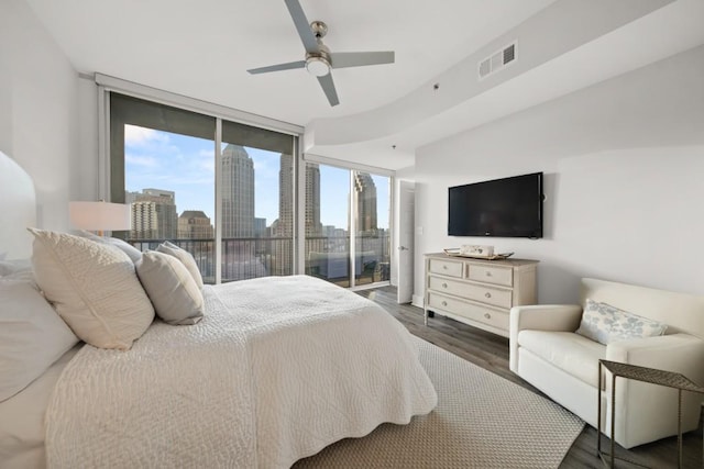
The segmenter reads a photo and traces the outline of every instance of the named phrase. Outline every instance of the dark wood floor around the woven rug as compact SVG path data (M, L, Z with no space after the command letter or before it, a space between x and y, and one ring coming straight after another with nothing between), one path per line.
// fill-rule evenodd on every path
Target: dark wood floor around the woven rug
M428 326L425 326L422 310L410 304L397 304L396 289L394 287L361 290L356 293L382 305L399 320L411 334L541 394L540 391L508 369L507 338L441 316L431 317ZM602 440L602 449L608 449L608 445L609 440L604 438ZM683 468L704 467L702 461L702 425L695 432L684 435L682 447ZM641 445L630 450L617 445L616 456L630 459L649 468L675 468L678 467L676 436ZM584 431L572 445L560 468L603 467L603 464L596 457L596 429L585 425ZM636 468L639 466L617 460L616 467Z

